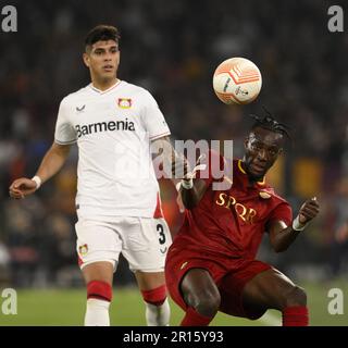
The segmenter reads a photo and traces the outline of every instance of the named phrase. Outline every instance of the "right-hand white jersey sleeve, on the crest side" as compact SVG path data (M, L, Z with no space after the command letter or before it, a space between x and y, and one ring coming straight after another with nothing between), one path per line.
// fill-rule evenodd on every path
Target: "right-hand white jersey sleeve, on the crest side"
M154 140L171 134L171 130L164 120L164 116L154 100L154 98L146 91L144 99L142 121L146 130L149 133L150 140Z

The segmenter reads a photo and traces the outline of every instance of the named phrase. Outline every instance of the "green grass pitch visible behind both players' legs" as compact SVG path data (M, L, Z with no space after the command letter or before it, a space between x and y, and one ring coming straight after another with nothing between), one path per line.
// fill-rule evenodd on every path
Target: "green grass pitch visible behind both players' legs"
M348 281L330 283L299 283L306 288L310 309L311 325L348 325ZM328 297L331 288L339 288L343 295L343 314L330 314ZM346 297L346 298L345 298ZM82 325L85 312L85 289L26 289L17 291L17 314L0 312L0 325L30 325L30 326L66 326ZM346 300L345 300L346 299ZM0 297L0 306L5 306L5 299ZM332 307L339 309L340 303L332 302ZM171 325L178 325L183 311L171 301ZM111 324L116 326L145 326L144 303L136 288L114 288L111 304ZM277 311L269 311L258 321L228 316L219 313L212 326L247 326L247 325L281 325Z

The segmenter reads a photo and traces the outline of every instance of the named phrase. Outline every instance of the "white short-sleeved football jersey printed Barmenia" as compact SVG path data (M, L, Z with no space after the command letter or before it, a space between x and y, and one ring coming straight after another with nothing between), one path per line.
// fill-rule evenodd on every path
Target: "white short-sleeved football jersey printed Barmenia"
M66 96L54 141L78 146L78 216L156 216L159 184L150 142L170 134L153 97L124 80L104 91L90 84Z

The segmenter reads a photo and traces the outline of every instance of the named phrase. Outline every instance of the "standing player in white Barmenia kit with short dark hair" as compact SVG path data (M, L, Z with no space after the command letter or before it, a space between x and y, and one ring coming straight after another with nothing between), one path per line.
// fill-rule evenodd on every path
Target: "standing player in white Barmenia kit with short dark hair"
M35 192L77 144L76 249L87 285L85 325L110 325L120 252L137 279L147 324L169 325L163 271L171 235L149 145L169 141L170 129L146 89L116 77L119 39L117 28L105 25L87 35L83 58L91 84L62 100L53 145L35 176L14 181L10 195L21 199Z

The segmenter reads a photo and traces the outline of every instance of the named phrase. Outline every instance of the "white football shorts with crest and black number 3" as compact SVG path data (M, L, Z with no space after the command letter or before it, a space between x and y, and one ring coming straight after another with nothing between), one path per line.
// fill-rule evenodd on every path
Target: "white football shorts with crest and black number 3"
M172 237L164 219L117 217L113 222L79 219L75 225L80 269L109 261L114 271L120 252L130 271L162 272Z

